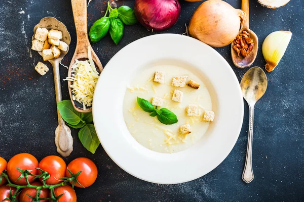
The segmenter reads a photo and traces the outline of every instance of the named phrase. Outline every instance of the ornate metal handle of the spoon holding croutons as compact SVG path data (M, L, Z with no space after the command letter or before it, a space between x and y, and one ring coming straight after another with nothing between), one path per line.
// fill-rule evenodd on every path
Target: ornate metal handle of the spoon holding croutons
M60 73L59 73L59 60L52 62L53 72L54 72L54 82L55 82L55 94L56 103L62 100L61 95L61 84L60 84ZM67 157L73 150L73 138L71 135L71 130L65 125L59 110L57 109L58 116L58 126L55 130L55 144L57 146L57 152L63 156Z

